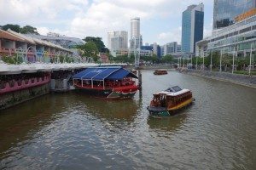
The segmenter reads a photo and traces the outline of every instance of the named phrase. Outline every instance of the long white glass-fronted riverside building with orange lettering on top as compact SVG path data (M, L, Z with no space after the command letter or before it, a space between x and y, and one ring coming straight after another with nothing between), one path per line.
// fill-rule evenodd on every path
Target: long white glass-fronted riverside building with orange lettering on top
M235 24L215 31L212 37L196 43L196 56L212 51L247 56L256 48L256 8L235 17Z

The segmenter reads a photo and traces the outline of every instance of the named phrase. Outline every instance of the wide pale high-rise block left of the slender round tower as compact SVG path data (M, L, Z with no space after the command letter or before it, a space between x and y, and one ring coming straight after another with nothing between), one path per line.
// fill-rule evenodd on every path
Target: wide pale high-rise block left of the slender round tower
M127 49L128 32L127 31L110 31L108 32L109 49Z

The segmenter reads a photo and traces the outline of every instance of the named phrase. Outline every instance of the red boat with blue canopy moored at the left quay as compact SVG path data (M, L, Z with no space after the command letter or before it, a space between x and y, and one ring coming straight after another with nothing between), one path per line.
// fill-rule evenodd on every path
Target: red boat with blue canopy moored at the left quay
M120 66L89 67L73 76L73 86L96 98L129 99L137 93L137 78Z

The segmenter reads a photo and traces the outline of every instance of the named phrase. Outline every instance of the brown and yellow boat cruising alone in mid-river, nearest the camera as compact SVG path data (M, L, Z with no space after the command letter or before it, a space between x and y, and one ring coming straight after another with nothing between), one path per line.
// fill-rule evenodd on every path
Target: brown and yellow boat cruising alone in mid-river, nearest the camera
M167 88L165 91L153 94L153 96L148 106L149 116L153 117L175 115L195 100L189 89L178 86Z

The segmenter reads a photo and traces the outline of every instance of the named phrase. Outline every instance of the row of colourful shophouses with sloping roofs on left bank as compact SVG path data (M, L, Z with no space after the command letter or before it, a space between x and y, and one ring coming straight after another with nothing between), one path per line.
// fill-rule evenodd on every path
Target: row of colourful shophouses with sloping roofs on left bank
M0 57L15 56L30 63L45 62L59 56L73 57L73 52L51 42L0 29Z

